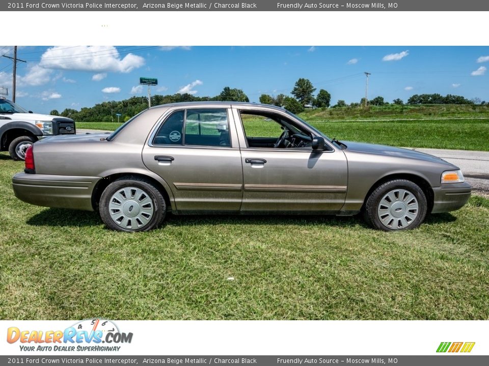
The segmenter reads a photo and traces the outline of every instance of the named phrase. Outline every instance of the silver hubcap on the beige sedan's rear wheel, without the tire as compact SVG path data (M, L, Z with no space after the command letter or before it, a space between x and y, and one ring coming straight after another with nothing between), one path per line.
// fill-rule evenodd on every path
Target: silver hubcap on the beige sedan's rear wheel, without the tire
M122 188L114 193L108 209L112 220L125 229L138 229L148 224L154 214L153 201L136 187Z

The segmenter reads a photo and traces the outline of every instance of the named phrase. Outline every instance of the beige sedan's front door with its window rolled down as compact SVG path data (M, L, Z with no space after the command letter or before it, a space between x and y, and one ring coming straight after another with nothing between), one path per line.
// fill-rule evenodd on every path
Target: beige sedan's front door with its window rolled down
M241 120L246 139L246 146L241 149L244 184L241 210L341 209L348 179L346 157L341 149L331 147L328 151L313 152L310 132L284 115L241 110L235 111L234 116Z

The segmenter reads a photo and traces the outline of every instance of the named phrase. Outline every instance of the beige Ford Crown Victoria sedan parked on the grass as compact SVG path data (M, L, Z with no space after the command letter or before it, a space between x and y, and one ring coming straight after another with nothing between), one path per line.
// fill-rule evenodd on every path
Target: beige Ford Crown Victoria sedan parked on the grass
M328 138L290 112L234 102L149 108L112 134L51 137L12 178L22 201L99 210L120 231L173 214L363 212L382 230L462 207L458 167L417 151Z

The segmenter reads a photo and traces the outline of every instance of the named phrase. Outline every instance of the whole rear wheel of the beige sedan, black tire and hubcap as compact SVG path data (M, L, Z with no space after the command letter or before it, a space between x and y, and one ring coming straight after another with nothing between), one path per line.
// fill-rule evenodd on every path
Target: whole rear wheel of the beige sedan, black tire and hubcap
M102 221L112 230L148 231L161 225L167 205L159 189L150 181L127 176L105 188L100 197L99 212Z

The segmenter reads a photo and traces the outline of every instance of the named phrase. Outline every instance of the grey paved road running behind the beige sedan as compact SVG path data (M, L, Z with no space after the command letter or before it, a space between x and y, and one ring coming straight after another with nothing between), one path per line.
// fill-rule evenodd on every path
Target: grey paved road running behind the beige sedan
M79 134L103 133L108 131L77 130ZM421 153L437 156L458 166L467 181L478 193L489 196L489 152L488 151L466 151L466 150L443 150L428 148L412 148Z

